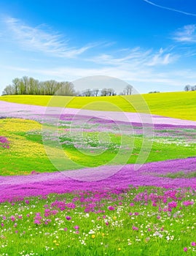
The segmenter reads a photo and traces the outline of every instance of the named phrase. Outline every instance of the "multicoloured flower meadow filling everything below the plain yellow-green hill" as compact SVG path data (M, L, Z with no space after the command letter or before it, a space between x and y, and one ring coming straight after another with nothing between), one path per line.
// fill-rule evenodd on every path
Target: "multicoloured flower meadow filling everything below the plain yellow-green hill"
M195 128L0 101L0 255L196 255Z

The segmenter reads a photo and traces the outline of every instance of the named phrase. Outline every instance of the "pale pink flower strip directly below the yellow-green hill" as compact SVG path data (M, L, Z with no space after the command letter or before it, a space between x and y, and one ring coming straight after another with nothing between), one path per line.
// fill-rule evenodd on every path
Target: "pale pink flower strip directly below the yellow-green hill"
M39 121L47 121L52 119L52 116L58 118L63 115L74 116L93 116L113 121L124 121L128 123L149 124L154 125L173 125L181 127L196 127L196 121L181 120L177 118L168 118L164 116L155 116L144 113L125 113L111 111L94 111L94 110L79 110L74 108L52 108L36 105L24 105L0 101L0 114L6 117L28 118Z

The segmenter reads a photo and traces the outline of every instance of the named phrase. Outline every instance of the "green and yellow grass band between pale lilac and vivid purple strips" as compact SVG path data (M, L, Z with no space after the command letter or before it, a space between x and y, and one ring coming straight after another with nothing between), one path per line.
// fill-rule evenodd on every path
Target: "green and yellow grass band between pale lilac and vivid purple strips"
M48 125L45 128L50 128L52 133L56 129ZM89 127L87 129L87 132L85 129L82 132L82 137L77 133L71 135L68 131L65 132L63 127L58 127L62 144L56 143L58 138L55 140L49 138L49 140L44 140L43 144L42 139L47 134L44 134L42 138L42 125L38 122L17 118L1 119L0 134L9 140L9 148L0 146L0 174L3 176L19 175L31 173L33 170L52 172L98 165L124 165L136 163L139 156L141 159L138 161L141 163L144 159L146 162L156 162L195 157L195 144L192 141L187 144L189 138L187 140L173 138L172 133L172 140L155 137L152 141L152 138L144 138L143 135L101 132L102 141L100 142L99 133L90 132ZM108 142L103 140L104 136L109 139ZM152 145L152 148L143 147L142 153L143 141L148 146ZM149 156L147 156L148 153Z

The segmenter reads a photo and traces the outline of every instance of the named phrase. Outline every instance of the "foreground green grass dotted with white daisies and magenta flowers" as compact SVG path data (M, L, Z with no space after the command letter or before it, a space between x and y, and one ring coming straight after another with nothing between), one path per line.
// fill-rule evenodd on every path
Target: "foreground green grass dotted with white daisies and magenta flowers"
M168 211L171 201L176 206ZM192 204L184 206L184 202ZM0 253L2 256L193 256L194 202L195 192L191 189L139 187L119 194L100 190L1 203ZM74 205L69 208L66 203Z

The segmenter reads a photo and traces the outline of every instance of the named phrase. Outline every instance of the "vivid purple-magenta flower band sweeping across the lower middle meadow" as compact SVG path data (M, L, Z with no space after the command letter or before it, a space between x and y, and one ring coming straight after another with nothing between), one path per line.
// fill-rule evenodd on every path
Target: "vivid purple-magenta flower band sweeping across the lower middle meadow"
M191 187L196 189L196 178L162 177L167 173L196 171L196 157L147 163L139 170L135 170L134 165L125 165L115 173L116 168L119 169L118 166L102 166L58 173L33 173L30 176L1 176L1 202L50 193L98 191L100 188L106 190L128 189L129 186ZM114 173L113 176L112 173ZM95 176L100 180L94 181ZM105 176L110 177L104 178Z

